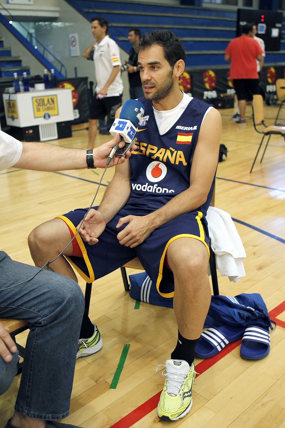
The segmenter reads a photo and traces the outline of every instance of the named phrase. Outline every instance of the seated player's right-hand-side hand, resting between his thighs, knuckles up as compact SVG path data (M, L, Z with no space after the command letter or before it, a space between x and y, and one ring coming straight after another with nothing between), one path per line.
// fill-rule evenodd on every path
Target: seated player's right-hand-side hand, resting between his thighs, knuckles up
M128 215L120 218L117 224L117 228L123 226L125 223L129 223L125 229L118 233L117 238L121 245L126 247L134 248L137 245L144 242L154 231L154 227L151 227L148 221L148 216L135 216Z

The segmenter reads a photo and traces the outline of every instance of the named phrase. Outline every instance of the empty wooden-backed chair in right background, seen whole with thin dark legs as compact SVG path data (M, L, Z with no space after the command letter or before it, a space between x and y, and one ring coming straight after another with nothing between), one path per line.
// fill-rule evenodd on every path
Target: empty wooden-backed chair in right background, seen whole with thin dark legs
M259 124L264 126L264 128L261 129L261 131L256 128L256 126L259 126ZM256 132L258 132L259 134L262 134L262 138L261 138L261 142L259 144L259 148L256 152L256 157L254 158L253 164L251 166L250 173L253 170L253 166L256 162L256 158L259 154L259 150L261 148L261 145L263 143L265 135L266 136L268 135L268 140L267 140L267 143L265 145L264 152L263 152L263 155L261 157L260 163L262 162L262 159L264 157L264 154L265 154L265 151L267 149L271 135L273 135L273 134L274 135L281 135L284 138L284 142L285 142L285 126L277 126L277 125L266 126L265 125L264 112L263 112L263 98L261 95L253 95L253 126L254 126L254 129L256 130Z

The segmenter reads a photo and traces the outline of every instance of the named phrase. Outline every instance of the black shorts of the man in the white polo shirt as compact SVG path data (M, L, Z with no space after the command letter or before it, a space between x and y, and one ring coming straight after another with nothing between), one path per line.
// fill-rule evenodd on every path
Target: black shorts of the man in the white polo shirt
M112 122L109 126L111 128L115 119L115 113L122 105L122 95L101 98L100 100L97 100L96 95L95 93L89 107L89 119L104 120L107 116L107 126Z

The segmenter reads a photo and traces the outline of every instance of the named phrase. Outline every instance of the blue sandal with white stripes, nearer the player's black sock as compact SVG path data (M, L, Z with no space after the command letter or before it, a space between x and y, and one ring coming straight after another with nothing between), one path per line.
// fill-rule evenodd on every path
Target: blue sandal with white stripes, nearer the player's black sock
M201 337L195 348L195 355L200 358L210 358L217 355L230 342L241 339L244 327L223 325L210 327L201 333Z

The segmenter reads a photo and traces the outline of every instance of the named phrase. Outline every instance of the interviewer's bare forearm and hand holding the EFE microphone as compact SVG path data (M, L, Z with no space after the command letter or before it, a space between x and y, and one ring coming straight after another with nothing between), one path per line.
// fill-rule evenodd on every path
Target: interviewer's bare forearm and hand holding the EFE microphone
M113 146L118 142L119 134L108 143L93 149L94 166L105 168L108 155ZM124 142L119 144L123 147ZM127 153L127 157L130 152ZM124 158L113 157L109 166L125 162ZM63 171L66 169L86 168L86 151L82 149L69 149L67 147L54 146L47 143L23 143L21 158L15 168L33 169L35 171Z

